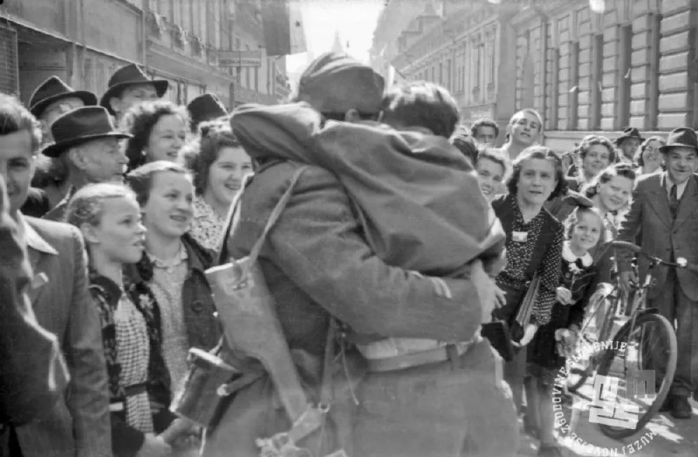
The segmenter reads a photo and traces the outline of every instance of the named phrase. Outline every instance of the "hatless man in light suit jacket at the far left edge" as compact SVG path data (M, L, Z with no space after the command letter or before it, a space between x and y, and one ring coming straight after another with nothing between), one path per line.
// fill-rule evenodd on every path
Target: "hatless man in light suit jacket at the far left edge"
M20 212L39 144L36 119L16 98L0 95L0 175L8 186L10 216L28 246L34 273L46 280L29 291L29 299L38 323L57 336L70 370L66 394L17 427L17 439L24 457L111 456L101 324L87 290L82 237L75 227Z

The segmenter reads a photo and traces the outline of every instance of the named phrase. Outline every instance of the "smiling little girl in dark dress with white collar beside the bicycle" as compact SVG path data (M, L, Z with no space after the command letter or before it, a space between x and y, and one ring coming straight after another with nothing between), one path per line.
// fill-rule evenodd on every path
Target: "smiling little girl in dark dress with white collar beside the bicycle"
M579 207L565 221L562 277L551 321L538 329L528 347L526 429L540 439L539 456L561 456L555 445L552 389L565 365L565 355L577 342L584 310L593 294L597 267L589 249L604 232L602 213Z

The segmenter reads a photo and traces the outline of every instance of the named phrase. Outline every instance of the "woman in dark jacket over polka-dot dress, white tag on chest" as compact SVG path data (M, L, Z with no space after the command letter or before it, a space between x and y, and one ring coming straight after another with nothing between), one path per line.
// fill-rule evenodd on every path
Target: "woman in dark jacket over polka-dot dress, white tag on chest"
M562 161L557 154L547 147L535 146L525 149L514 160L507 181L509 193L492 201L507 234L507 267L497 276L498 308L493 317L511 324L530 282L536 274L540 278L531 320L522 329L521 347L504 370L519 410L526 375L526 343L538 327L549 322L560 285L563 226L543 205L566 187Z

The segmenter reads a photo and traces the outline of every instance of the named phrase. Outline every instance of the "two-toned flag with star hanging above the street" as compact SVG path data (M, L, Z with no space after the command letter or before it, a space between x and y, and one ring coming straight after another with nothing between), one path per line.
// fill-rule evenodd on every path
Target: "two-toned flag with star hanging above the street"
M297 2L263 1L262 27L268 56L288 56L306 52L305 27Z

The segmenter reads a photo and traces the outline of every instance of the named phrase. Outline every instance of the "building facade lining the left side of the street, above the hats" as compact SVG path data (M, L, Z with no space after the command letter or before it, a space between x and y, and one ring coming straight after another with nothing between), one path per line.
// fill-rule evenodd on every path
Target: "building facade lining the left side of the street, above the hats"
M0 6L0 91L27 103L57 75L101 96L117 68L138 63L186 104L210 92L228 107L278 103L283 57L267 57L260 6L232 0L6 0ZM260 65L222 68L221 50L259 50ZM281 61L281 64L279 64Z

